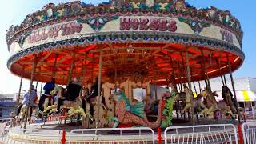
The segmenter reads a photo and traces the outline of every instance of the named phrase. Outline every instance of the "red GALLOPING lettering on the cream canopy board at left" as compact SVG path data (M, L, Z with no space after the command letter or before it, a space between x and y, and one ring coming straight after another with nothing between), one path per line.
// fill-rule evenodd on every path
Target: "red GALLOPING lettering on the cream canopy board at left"
M57 26L46 27L42 30L35 30L30 36L28 36L28 42L34 43L42 40L46 40L47 38L56 38L58 34L61 32L62 36L72 35L75 33L80 33L82 30L82 24L70 22Z

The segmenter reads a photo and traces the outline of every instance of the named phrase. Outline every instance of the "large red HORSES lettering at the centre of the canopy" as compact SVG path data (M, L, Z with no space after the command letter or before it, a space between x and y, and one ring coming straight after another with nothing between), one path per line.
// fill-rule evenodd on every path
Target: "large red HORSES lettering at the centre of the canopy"
M177 22L166 18L120 18L120 30L152 30L170 31L177 30Z

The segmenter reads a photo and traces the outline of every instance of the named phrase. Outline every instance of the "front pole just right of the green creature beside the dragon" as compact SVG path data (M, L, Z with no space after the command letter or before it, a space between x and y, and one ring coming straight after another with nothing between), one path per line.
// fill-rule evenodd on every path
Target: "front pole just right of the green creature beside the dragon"
M183 59L183 58L182 58ZM187 74L187 80L188 80L188 85L190 89L190 93L192 92L192 86L191 86L191 74L190 74L190 59L189 59L189 54L186 50L186 74ZM193 125L195 124L194 122L194 102L193 102L193 94L190 94L191 96L191 112L192 112L192 123Z

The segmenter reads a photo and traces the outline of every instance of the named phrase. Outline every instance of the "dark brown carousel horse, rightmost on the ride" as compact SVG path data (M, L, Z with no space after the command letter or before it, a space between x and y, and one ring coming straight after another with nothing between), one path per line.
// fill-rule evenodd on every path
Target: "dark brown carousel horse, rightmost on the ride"
M233 94L227 86L222 86L222 98L224 102L230 106L230 110L232 110L234 114L238 114L236 109L238 102L233 98Z

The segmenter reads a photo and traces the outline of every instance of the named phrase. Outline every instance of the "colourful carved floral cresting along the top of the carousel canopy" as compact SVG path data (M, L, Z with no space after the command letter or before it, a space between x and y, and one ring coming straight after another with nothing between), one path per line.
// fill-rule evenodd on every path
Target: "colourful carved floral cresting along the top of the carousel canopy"
M29 14L20 26L11 26L6 34L6 42L10 47L12 42L17 41L27 32L26 30L78 18L89 23L94 30L101 30L107 22L121 15L179 18L190 25L196 34L210 24L221 26L234 33L242 46L243 33L240 22L230 14L230 11L218 10L214 7L197 9L184 0L110 0L102 2L98 6L79 1L62 3L57 6L50 3L42 10Z

